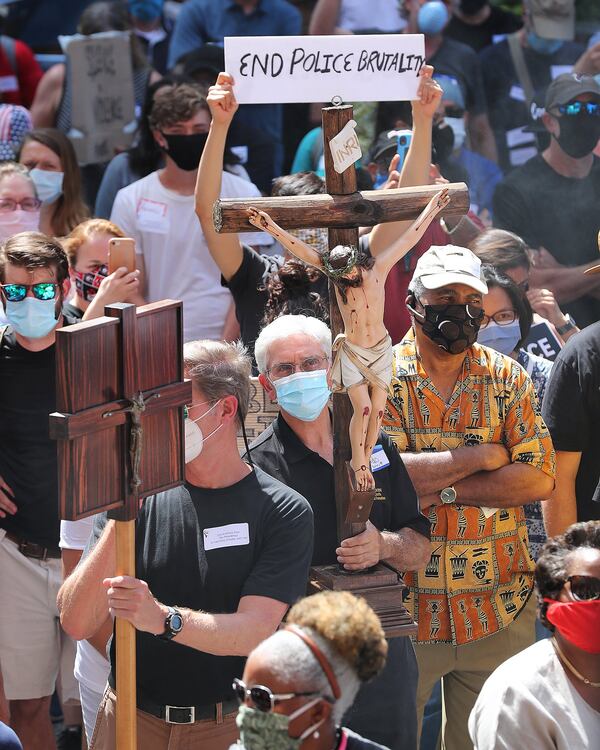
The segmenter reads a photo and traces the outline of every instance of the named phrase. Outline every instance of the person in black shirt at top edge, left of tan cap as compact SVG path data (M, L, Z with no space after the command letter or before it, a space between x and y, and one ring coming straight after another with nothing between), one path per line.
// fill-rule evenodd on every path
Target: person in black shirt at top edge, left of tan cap
M494 37L518 31L523 21L488 0L452 0L452 18L444 36L467 44L475 52L493 44Z

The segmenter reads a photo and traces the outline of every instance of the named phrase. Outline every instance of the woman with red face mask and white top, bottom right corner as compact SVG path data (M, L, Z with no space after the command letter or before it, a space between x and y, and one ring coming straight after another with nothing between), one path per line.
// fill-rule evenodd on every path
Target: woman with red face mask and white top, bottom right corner
M488 678L469 718L474 750L600 747L600 521L549 539L535 582L552 638Z

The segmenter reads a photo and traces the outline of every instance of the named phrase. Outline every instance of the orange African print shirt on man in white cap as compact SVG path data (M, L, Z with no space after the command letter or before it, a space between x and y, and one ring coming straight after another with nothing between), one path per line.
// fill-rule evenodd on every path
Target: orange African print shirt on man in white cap
M394 347L384 428L400 452L502 443L513 463L554 477L554 449L531 380L512 359L478 344L467 351L446 405L409 331ZM456 503L433 506L429 520L429 563L405 577L417 641L461 645L510 625L533 587L523 508L486 518L480 508Z

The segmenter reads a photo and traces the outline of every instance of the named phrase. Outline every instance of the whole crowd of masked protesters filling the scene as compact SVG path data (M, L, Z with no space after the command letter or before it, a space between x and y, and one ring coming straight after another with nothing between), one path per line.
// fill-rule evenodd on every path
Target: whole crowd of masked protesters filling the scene
M137 631L144 750L600 747L594 3L51 5L0 39L0 750L117 748L115 617ZM137 130L110 160L80 158L68 53L44 62L75 32L128 35ZM326 192L327 103L238 105L223 40L405 33L424 36L417 98L354 103L357 181L439 193L336 256L326 229L253 208ZM448 182L462 217L440 216ZM248 232L216 231L219 198ZM135 268L111 267L123 238ZM375 415L375 501L340 538L329 289L368 279L356 326L381 313L393 349L345 384ZM144 499L121 576L106 513L60 518L56 332L166 298L192 383L185 484ZM274 418L248 445L261 391ZM378 564L406 584L411 637L348 592L307 595L311 566Z

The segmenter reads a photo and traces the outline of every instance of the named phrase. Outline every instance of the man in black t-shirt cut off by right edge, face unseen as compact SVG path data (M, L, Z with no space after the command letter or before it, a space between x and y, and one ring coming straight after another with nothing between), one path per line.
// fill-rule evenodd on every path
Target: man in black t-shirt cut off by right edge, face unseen
M598 267L600 271L600 267ZM561 349L542 404L556 449L556 486L544 513L548 536L575 521L600 520L600 323Z

